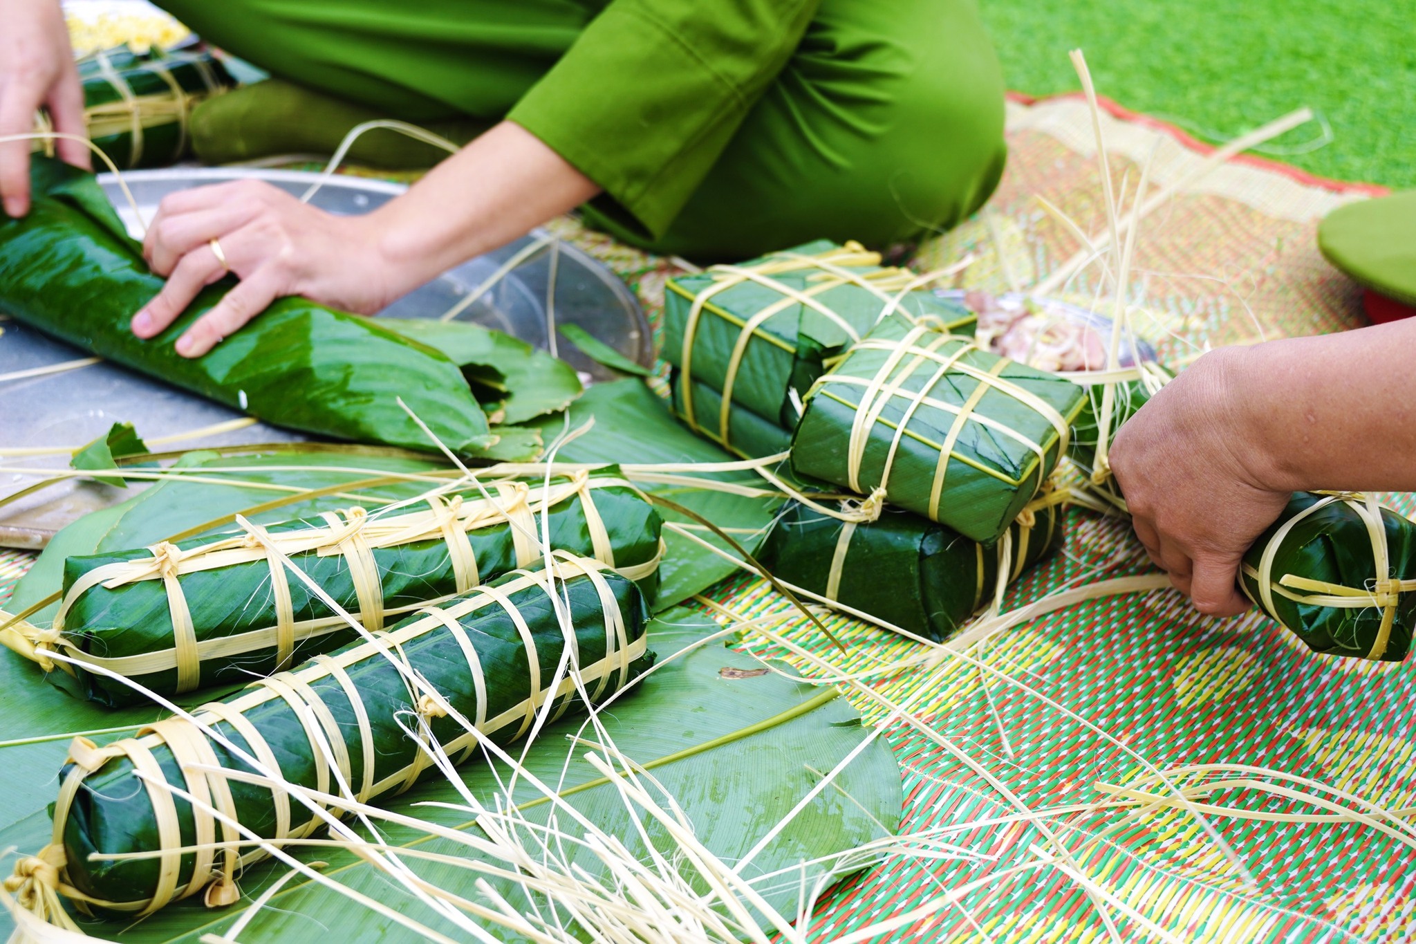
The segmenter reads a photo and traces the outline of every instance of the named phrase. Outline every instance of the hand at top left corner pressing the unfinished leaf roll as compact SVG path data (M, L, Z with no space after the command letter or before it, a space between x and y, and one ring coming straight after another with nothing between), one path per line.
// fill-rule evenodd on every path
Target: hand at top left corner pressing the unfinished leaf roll
M41 105L54 130L85 136L84 88L59 0L0 0L0 139L33 132ZM30 147L28 140L0 143L0 198L10 217L30 212ZM79 142L59 140L55 151L91 167Z

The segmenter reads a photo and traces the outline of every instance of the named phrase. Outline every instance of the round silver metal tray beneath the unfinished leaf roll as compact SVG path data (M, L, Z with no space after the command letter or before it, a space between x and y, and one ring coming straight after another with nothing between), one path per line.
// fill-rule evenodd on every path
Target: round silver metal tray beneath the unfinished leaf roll
M167 194L202 184L231 180L263 180L292 194L303 194L319 174L252 168L188 168L132 171L123 174L146 219ZM112 174L101 174L103 185L129 229L137 235L137 221ZM401 184L334 177L310 201L334 214L365 214L406 190ZM473 321L514 334L541 348L552 345L551 314L555 324L578 324L632 361L653 365L653 338L643 310L629 287L603 265L535 231L511 245L449 269L421 289L399 299L379 314L395 318L435 318L477 290L504 263L537 242L520 265L487 290L459 321ZM0 375L84 357L67 344L18 324L0 323ZM555 338L559 357L571 362L590 384L612 374L595 364L564 337ZM101 436L115 422L132 422L140 436L159 439L201 429L239 415L193 393L112 364L64 374L0 382L0 449L78 446ZM239 432L201 440L184 440L180 447L200 449L238 443L292 442L299 433L258 423ZM0 457L0 466L17 468L59 468L67 456L37 459ZM34 483L38 474L0 473L0 497ZM132 495L96 483L54 485L34 498L0 508L0 546L40 548L65 524L88 511Z

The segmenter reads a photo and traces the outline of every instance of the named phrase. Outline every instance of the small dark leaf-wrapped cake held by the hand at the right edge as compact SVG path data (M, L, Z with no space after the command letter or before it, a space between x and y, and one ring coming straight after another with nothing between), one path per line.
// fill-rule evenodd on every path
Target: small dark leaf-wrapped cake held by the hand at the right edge
M1300 491L1240 586L1314 652L1400 662L1416 626L1416 524L1374 497Z

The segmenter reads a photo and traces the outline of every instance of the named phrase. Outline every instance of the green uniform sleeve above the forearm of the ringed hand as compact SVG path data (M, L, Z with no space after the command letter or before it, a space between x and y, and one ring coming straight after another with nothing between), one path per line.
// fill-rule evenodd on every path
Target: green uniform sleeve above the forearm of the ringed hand
M613 0L507 116L664 234L806 33L818 0Z

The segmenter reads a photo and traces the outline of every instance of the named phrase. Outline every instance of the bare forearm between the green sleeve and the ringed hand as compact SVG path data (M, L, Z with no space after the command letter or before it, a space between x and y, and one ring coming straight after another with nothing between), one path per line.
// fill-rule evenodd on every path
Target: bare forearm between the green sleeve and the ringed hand
M534 134L503 122L370 214L367 226L398 296L598 192Z

